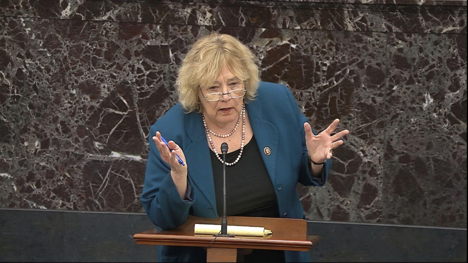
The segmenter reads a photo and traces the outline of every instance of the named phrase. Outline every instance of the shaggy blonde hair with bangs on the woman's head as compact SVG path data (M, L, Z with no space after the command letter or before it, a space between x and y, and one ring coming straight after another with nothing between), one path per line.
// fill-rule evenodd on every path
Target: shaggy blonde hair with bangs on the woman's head
M195 42L179 68L177 91L179 101L187 112L202 112L198 91L200 87L212 85L225 66L234 76L245 81L246 102L254 99L259 81L254 55L236 38L213 33Z

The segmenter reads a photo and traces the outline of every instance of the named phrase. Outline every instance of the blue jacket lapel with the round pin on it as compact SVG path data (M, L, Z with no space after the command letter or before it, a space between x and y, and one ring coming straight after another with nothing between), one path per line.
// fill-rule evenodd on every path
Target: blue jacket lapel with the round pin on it
M276 157L278 156L278 131L273 124L265 121L261 102L259 100L250 101L246 106L255 140L257 141L258 150L260 150L263 163L274 184L274 179L276 177ZM266 147L270 148L270 155L265 154Z

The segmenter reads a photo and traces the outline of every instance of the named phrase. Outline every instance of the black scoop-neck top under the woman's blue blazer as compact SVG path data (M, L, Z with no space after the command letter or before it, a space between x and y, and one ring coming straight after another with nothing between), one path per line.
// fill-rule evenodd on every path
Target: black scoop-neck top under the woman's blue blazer
M232 163L240 149L227 153ZM219 154L222 159L223 155ZM223 216L223 164L211 152L215 180L216 209ZM263 163L255 137L244 146L242 156L233 166L226 166L226 214L228 216L279 217L278 201L272 180Z

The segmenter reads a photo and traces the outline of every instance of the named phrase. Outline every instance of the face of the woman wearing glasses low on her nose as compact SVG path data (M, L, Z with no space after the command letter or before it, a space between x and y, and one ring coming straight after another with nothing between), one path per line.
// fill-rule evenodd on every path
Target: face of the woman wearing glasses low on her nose
M234 76L227 67L223 68L211 86L200 88L198 98L203 106L203 115L210 129L215 128L213 125L223 128L232 122L236 123L239 113L242 110L244 97L231 98L226 94L218 101L207 101L206 98L203 97L203 94L206 95L215 92L228 93L231 90L244 88L244 81Z

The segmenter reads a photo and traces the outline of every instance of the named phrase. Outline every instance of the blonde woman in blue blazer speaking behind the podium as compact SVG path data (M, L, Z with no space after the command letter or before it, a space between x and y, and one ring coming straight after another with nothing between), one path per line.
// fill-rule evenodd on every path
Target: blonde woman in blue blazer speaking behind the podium
M215 33L192 46L177 78L180 103L150 129L140 200L156 226L174 228L189 214L222 216L223 142L228 215L304 218L296 184L323 186L332 150L349 131L332 134L335 119L316 134L288 88L258 75L254 56L232 36ZM309 259L307 252L264 252L245 260ZM158 260L206 261L206 252L159 246Z

